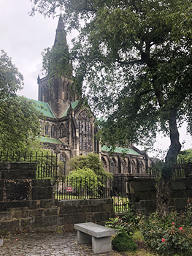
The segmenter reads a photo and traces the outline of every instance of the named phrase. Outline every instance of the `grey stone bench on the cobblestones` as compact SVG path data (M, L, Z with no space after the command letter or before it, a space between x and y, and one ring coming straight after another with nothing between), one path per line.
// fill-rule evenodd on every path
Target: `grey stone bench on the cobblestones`
M93 253L104 253L112 251L111 236L115 235L115 230L103 227L93 222L74 224L77 230L78 244L92 244Z

